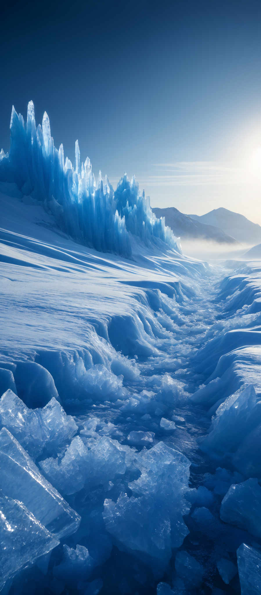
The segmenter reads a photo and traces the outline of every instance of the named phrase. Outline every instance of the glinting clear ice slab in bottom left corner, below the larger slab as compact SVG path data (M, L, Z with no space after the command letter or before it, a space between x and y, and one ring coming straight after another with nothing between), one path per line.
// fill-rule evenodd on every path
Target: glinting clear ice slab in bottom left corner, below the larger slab
M58 546L59 540L18 500L0 496L0 590L8 579L36 558Z

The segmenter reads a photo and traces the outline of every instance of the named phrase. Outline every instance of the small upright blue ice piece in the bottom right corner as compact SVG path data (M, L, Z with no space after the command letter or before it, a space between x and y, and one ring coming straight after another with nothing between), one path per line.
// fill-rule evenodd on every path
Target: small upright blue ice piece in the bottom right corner
M261 593L261 552L242 543L237 550L237 566L240 578L241 595Z

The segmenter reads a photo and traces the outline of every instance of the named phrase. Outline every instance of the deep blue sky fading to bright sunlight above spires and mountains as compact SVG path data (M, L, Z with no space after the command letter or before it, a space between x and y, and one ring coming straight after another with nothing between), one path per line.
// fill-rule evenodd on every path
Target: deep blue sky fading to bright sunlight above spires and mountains
M260 0L9 2L0 28L5 151L12 104L33 99L55 145L73 159L78 139L114 186L135 173L153 206L261 223Z

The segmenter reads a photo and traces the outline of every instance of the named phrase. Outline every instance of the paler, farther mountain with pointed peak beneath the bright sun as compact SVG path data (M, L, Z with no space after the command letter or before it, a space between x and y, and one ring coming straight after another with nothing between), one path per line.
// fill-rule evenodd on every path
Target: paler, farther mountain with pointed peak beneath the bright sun
M228 209L213 209L206 215L188 215L188 217L204 223L219 227L229 236L235 237L238 242L258 244L261 242L261 227L257 223L249 221L244 215L228 211Z

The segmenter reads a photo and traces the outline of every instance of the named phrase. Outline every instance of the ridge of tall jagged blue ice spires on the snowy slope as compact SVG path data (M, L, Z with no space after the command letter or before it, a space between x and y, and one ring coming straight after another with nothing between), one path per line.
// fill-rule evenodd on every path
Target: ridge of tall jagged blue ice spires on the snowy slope
M80 161L78 141L73 166L64 159L63 146L55 148L46 112L42 126L36 127L32 101L26 123L12 108L10 131L10 153L0 153L2 189L11 183L12 196L30 196L42 203L74 240L130 257L131 232L146 245L163 242L180 251L177 238L162 218L156 218L135 178L130 182L124 174L115 193L100 172L96 184L90 159Z

